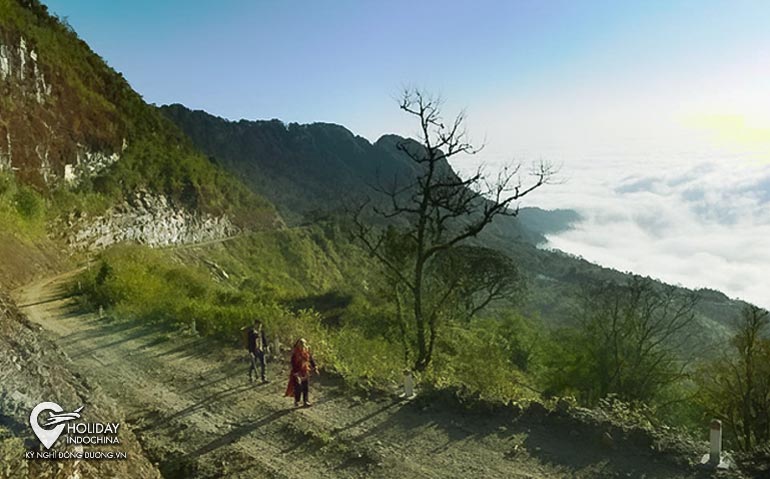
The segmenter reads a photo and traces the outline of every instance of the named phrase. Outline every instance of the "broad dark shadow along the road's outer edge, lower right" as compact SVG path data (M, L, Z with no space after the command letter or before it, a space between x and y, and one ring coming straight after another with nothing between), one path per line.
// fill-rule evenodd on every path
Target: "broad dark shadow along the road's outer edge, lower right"
M542 464L572 471L596 471L598 476L646 477L668 479L671 477L701 477L672 456L654 451L649 445L639 443L634 437L613 431L614 445L603 441L606 428L601 425L585 425L572 418L548 412L514 411L498 408L478 411L460 405L446 403L433 407L430 400L410 402L394 401L367 415L346 424L337 433L355 429L367 421L374 422L366 430L349 436L354 444L369 438L387 437L393 432L411 438L439 432L439 441L430 454L440 454L462 442L483 442L486 439L501 444L505 457L515 459L526 454ZM499 447L499 446L498 446Z

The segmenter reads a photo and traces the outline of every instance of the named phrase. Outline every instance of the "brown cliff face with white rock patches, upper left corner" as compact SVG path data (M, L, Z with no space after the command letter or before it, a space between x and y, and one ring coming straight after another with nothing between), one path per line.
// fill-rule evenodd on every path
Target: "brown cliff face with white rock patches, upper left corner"
M125 139L102 101L83 98L55 52L0 22L0 171L39 187L77 184L119 159ZM66 180L66 181L65 181Z

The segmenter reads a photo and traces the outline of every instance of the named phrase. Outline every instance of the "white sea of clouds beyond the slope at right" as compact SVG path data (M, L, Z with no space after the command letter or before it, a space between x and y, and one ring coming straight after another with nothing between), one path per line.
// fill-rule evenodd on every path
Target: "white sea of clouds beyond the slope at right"
M556 248L621 271L770 307L770 164L738 158L565 163L522 206L583 220Z

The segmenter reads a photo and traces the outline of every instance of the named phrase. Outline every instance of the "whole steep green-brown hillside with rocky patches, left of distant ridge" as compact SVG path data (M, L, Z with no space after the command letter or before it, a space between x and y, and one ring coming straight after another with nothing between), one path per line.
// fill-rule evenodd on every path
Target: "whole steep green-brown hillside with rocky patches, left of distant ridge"
M0 173L47 198L48 217L100 195L100 217L58 225L76 228L79 248L206 241L232 234L232 224L280 221L40 0L0 0ZM140 190L149 196L136 200Z

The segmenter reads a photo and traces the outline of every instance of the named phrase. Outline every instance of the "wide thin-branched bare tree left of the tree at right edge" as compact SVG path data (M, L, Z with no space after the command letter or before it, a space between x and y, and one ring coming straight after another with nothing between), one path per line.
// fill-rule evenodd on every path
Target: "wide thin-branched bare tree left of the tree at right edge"
M608 395L650 401L685 376L680 352L695 321L698 296L634 276L591 284L581 292L574 328L552 355L552 392L577 393L587 404Z

